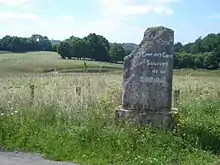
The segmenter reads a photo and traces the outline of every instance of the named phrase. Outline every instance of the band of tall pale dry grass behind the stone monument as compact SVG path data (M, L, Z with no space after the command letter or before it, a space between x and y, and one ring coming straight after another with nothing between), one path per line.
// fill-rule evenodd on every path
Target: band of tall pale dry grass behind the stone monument
M35 104L58 104L60 106L86 105L115 90L121 93L121 74L71 73L71 74L26 74L0 77L0 102L17 106L31 100L30 85L34 85ZM76 92L80 87L81 95ZM218 98L218 77L174 76L173 90L181 92L180 102L191 103L207 98ZM155 91L156 92L156 91ZM118 96L118 95L117 95ZM120 104L121 96L117 98Z

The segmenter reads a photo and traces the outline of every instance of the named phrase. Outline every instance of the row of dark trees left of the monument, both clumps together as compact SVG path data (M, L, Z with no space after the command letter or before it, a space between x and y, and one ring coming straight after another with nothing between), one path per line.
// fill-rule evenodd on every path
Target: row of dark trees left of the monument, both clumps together
M109 43L109 41L95 33L84 38L71 36L68 39L52 44L47 36L33 34L31 37L6 35L0 39L0 51L15 53L28 51L55 51L63 59L92 59L96 61L118 62L132 50L124 49L123 44Z

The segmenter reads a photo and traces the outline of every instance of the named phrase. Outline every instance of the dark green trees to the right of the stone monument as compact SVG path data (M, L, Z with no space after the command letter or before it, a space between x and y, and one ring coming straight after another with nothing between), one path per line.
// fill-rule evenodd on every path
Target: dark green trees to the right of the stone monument
M195 42L174 45L174 68L218 69L220 62L220 33L199 37Z

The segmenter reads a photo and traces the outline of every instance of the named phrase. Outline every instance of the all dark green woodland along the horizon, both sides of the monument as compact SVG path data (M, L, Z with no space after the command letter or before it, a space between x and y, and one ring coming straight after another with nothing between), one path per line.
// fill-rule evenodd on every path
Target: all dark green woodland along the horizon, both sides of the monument
M26 38L7 35L0 39L0 50L3 51L55 51L63 59L77 58L106 62L123 61L123 58L134 48L135 44L109 43L105 37L95 33L84 38L71 36L59 44L52 44L47 36L38 34ZM208 34L185 45L177 42L174 49L174 68L219 68L220 33Z

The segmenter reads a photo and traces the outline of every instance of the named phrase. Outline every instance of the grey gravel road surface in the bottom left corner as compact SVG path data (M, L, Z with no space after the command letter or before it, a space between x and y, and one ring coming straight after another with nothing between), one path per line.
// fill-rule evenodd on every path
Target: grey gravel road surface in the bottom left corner
M43 159L38 154L23 152L0 152L0 165L79 165Z

